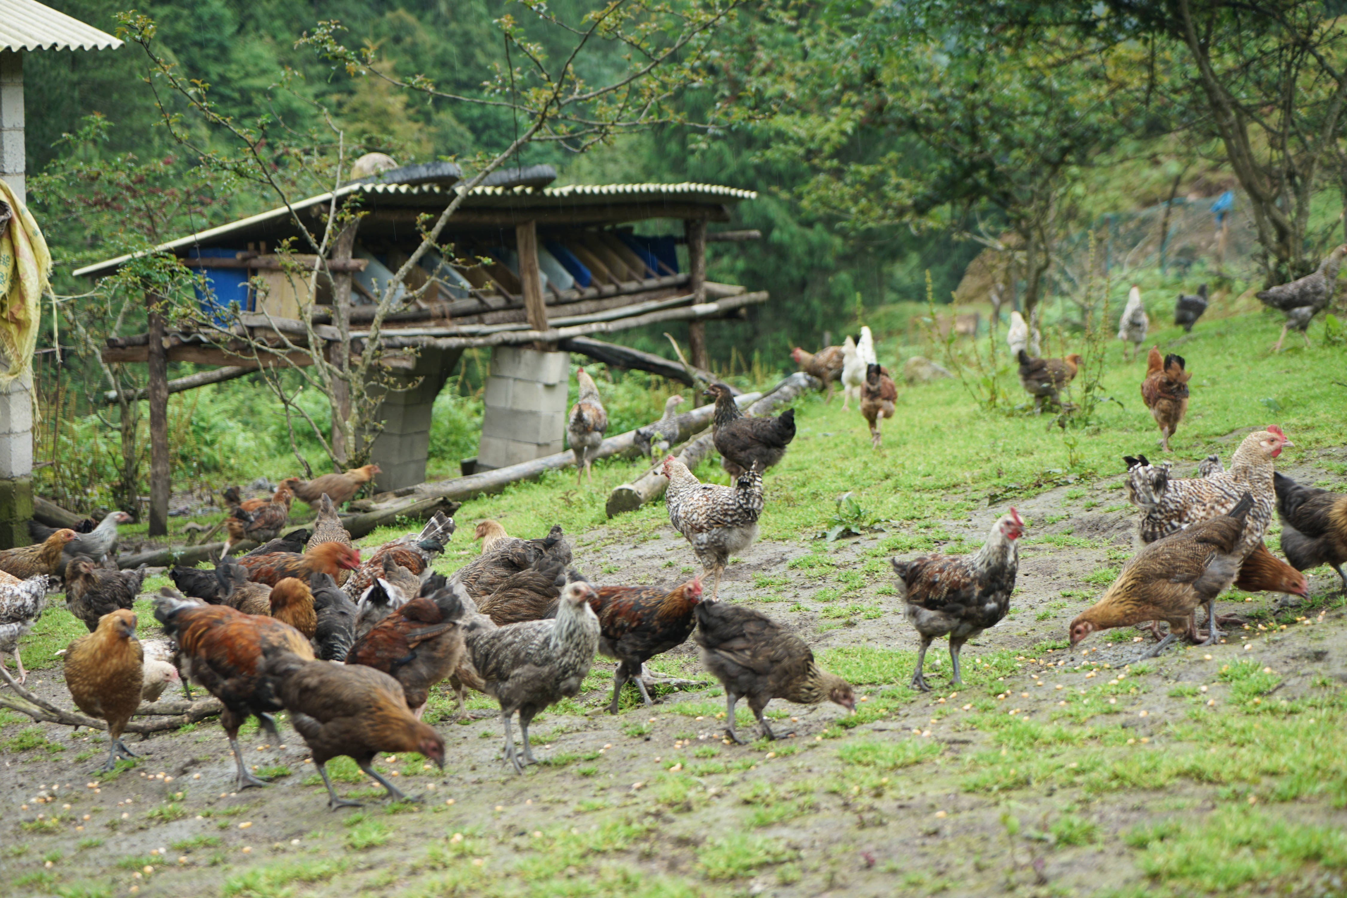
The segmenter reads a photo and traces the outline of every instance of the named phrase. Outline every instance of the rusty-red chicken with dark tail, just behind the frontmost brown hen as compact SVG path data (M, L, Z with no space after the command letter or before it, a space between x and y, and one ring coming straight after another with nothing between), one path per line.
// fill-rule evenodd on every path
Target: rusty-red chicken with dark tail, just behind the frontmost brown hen
M244 767L238 727L253 715L267 732L277 735L271 714L282 708L280 683L263 669L263 656L291 652L311 661L308 640L288 623L222 605L198 605L170 587L155 596L155 619L178 642L191 679L225 705L220 723L234 753L237 789L265 786Z

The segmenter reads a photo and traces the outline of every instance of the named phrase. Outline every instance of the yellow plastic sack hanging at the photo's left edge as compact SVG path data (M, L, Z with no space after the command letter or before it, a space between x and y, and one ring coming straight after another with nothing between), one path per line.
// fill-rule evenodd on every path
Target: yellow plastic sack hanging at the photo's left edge
M42 295L50 289L51 253L28 207L0 180L0 202L9 218L0 236L0 351L8 368L0 368L0 388L32 368L42 323Z

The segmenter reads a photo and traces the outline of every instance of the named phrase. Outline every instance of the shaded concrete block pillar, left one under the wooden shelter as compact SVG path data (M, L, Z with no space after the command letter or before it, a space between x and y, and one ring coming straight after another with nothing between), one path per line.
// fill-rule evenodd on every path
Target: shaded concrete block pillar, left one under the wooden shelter
M397 373L396 380L415 386L387 393L379 408L384 429L370 447L370 460L380 467L374 478L379 490L400 490L426 482L435 397L462 354L461 349L423 349L411 370Z

